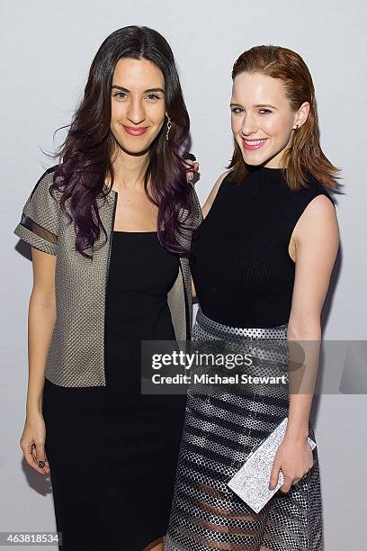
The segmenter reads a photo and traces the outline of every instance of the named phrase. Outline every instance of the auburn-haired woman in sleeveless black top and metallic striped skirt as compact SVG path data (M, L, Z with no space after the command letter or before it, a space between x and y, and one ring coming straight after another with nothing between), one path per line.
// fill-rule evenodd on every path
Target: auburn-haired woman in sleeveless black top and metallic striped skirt
M329 194L339 169L320 147L314 86L299 54L256 46L239 56L232 78L233 158L192 236L200 303L192 339L199 350L220 341L221 352L249 352L245 372L283 373L287 384L235 384L228 392L219 384L217 393L191 385L164 548L320 551L322 501L309 412L320 315L339 242ZM285 436L264 474L270 489L281 471L284 482L255 512L228 481L284 418Z

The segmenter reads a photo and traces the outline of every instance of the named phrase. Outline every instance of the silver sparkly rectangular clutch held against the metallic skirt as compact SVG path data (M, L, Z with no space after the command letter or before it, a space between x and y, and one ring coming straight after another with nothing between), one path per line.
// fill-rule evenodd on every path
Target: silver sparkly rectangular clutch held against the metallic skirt
M269 437L252 450L245 465L228 482L229 488L237 493L255 512L262 510L284 483L284 475L280 471L278 483L273 490L269 490L273 460L278 447L282 444L287 421L288 417L282 420ZM311 449L316 447L316 443L311 438L308 438L308 443Z

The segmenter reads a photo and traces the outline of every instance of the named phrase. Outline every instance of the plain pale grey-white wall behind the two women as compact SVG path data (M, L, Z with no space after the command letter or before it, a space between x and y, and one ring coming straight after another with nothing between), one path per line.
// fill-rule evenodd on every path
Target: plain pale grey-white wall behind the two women
M55 529L49 478L24 464L19 447L31 262L13 228L31 187L54 164L40 148L54 150L52 134L70 122L104 38L122 26L145 24L170 42L191 115L192 151L201 161L201 201L231 155L233 61L256 44L279 44L300 53L316 87L322 147L343 167L346 192L337 207L342 245L324 337L366 339L366 12L362 0L2 0L0 530ZM59 132L56 144L63 137ZM329 394L316 397L314 406L326 551L362 549L367 537L365 396Z

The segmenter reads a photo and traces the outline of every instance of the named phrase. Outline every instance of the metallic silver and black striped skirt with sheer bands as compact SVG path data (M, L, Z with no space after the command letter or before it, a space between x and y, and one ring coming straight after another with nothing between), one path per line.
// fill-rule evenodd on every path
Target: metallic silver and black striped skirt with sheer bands
M192 339L205 354L249 355L252 365L230 375L280 375L288 370L287 325L243 329L197 313ZM210 366L218 380L228 368ZM192 366L208 373L208 367ZM204 380L204 379L200 379ZM228 488L246 457L288 415L288 385L191 384L164 551L322 551L318 448L313 466L289 492L278 491L255 513ZM309 424L309 437L316 441Z

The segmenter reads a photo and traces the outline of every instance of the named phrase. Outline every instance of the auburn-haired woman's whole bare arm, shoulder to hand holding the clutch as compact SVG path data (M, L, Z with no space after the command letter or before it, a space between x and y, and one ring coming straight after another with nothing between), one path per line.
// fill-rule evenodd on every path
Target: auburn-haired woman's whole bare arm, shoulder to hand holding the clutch
M289 370L290 404L284 439L273 462L274 487L282 468L282 492L298 483L313 465L309 436L309 412L318 372L321 340L320 317L339 246L336 211L325 195L313 199L300 216L292 239L296 251L295 282L288 323L290 360L300 344L304 357L300 367ZM299 348L299 349L300 349ZM290 361L291 366L291 361Z

